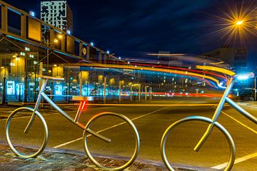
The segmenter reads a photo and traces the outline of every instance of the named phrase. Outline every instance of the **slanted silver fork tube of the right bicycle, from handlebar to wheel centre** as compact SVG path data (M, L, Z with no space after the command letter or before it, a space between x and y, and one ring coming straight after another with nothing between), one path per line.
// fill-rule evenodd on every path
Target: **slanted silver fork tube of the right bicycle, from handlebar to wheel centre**
M213 117L211 118L213 123L215 123L217 121L219 115L221 114L221 110L223 108L223 105L226 102L226 97L228 97L228 94L231 92L231 89L233 88L234 83L235 83L235 81L233 80L233 77L231 77L230 80L228 81L228 87L224 91L224 93L222 95L222 98L221 98L220 102L218 103L218 106L215 110L215 113L213 114ZM208 136L211 134L211 131L213 130L213 127L214 127L213 123L208 125L208 128L206 129L206 132L203 134L201 139L198 141L196 146L193 148L193 150L195 150L196 152L198 152L200 150L203 143L206 142Z

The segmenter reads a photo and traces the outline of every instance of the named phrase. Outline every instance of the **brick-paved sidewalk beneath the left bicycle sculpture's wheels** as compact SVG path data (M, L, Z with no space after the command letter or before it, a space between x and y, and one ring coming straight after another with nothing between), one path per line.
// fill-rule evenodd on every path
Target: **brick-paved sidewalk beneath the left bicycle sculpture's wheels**
M25 147L19 147L19 150L26 152L31 150ZM101 164L106 166L116 167L122 165L122 159L111 159L110 157L98 157ZM0 144L0 170L101 170L96 167L89 158L85 157L83 152L76 152L72 150L56 150L46 149L36 159L22 159L14 155L13 152L6 145ZM133 162L126 170L149 170L161 171L167 170L162 163L152 161ZM192 169L178 169L179 171L192 171ZM203 169L204 170L204 169Z

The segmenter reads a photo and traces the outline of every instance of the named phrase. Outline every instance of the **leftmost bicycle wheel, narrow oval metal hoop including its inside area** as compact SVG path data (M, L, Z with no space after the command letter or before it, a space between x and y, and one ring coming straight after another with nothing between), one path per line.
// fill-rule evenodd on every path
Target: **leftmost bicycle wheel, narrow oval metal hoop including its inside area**
M11 150L24 158L39 155L46 147L49 136L46 121L38 111L34 112L33 108L22 107L14 110L6 120L5 130Z

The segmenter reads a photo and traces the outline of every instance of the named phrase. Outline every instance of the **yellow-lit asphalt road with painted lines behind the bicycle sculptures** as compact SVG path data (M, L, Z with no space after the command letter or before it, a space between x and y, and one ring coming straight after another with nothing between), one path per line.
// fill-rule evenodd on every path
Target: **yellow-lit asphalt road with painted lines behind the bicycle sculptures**
M161 137L171 123L190 115L201 115L211 118L215 111L215 105L208 106L183 106L185 103L197 104L218 103L217 100L198 98L176 98L173 100L152 101L143 103L148 106L87 106L81 115L81 123L86 122L97 113L109 111L122 113L133 120L141 136L141 150L138 160L154 160L161 162L160 142ZM138 104L138 103L137 103ZM156 104L170 104L171 106L156 106ZM179 106L176 106L178 104ZM155 105L155 106L151 106ZM257 109L246 108L257 117ZM14 108L0 108L1 115L7 115ZM76 114L75 108L66 108L67 113L72 117ZM28 113L19 113L11 123L11 140L16 144L36 147L44 137L41 123L36 120L24 136L22 131L29 120ZM83 130L69 120L66 120L55 110L44 110L42 112L49 128L49 142L47 147L62 148L69 150L84 150L82 135ZM0 141L5 142L4 124L5 118L0 120ZM236 144L236 164L233 170L257 170L257 125L240 115L231 107L224 107L218 122L231 133ZM102 118L97 120L92 129L101 131L102 135L111 139L110 143L103 142L93 136L89 137L89 147L92 152L101 155L124 156L132 154L134 139L131 128L119 118ZM216 167L228 162L228 142L222 133L215 129L200 152L194 152L193 147L198 142L206 129L207 124L199 122L183 123L171 132L166 146L168 160L171 163L190 165L196 167ZM22 138L21 138L22 136ZM217 167L218 166L218 167Z

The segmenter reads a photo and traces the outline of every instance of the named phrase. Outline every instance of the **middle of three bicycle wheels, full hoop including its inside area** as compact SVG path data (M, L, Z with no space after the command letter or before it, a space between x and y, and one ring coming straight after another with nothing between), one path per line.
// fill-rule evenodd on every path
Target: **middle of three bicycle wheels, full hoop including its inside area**
M89 140L91 135L94 138ZM136 160L140 148L136 126L129 118L118 113L95 115L86 124L83 137L86 155L94 165L104 170L124 170L129 167ZM110 163L101 160L99 153L101 156L108 153L113 158L119 157L123 162L111 167Z

